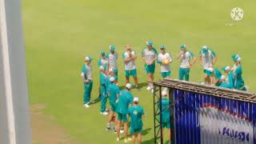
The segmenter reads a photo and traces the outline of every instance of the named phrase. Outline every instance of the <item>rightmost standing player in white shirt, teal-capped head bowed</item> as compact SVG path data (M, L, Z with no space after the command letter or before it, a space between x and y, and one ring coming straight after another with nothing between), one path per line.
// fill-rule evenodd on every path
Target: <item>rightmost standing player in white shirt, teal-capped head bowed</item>
M211 77L209 74L206 74L206 71L213 67L217 62L216 54L213 50L210 50L207 46L202 46L202 50L199 52L200 64L202 66L203 72L205 74L204 81L206 84L211 84Z

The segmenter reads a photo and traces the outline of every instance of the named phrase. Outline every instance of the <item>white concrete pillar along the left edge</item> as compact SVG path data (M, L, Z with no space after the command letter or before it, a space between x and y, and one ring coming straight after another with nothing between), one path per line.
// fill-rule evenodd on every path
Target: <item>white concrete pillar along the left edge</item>
M31 143L20 0L0 0L0 143Z

